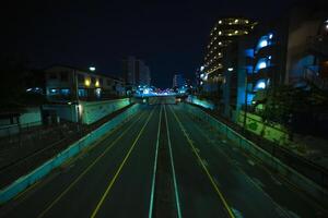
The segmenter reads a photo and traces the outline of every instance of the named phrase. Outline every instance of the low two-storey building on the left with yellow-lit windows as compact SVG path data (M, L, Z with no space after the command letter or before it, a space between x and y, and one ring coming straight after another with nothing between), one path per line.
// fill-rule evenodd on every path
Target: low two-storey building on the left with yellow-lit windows
M125 95L121 78L69 65L47 68L45 81L49 101L99 100Z

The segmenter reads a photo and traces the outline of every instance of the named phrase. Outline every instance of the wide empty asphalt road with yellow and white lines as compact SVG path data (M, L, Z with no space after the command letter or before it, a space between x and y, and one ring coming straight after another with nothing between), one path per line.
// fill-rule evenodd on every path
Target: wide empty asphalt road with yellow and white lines
M0 208L1 217L309 217L314 201L165 101Z

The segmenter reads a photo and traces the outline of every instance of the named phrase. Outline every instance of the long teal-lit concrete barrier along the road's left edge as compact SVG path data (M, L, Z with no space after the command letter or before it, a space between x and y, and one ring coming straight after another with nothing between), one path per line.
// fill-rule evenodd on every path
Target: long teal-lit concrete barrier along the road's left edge
M16 181L8 185L7 187L2 189L0 191L0 204L3 204L12 199L20 192L24 191L30 185L43 179L55 168L59 167L65 161L79 154L83 148L96 142L101 136L106 134L108 131L113 130L117 125L127 121L129 118L131 118L131 116L136 114L141 107L142 106L139 104L133 105L131 108L118 114L110 121L104 123L97 130L89 133L87 135L83 136L79 141L74 142L67 149L62 150L57 156L52 157L50 160L46 161L45 164L43 164L42 166L39 166L28 174L21 177L20 179L17 179Z

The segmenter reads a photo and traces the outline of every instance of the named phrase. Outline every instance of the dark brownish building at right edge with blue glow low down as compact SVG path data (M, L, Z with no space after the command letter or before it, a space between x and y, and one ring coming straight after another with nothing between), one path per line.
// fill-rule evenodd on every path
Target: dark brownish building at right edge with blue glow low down
M321 4L298 5L291 10L286 45L285 84L311 81L328 88L328 11Z

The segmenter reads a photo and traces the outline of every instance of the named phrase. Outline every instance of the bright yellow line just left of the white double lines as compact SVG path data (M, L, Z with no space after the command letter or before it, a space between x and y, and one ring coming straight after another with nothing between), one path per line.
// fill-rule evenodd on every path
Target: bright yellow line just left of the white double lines
M98 210L99 210L102 204L104 203L106 196L108 195L108 193L109 193L112 186L114 185L114 183L115 183L117 177L119 175L119 173L120 173L122 167L125 166L127 159L129 158L131 152L133 150L133 148L134 148L137 142L139 141L140 136L142 135L142 133L143 133L143 131L144 131L147 124L149 123L151 117L153 116L154 111L155 111L155 109L153 109L152 112L150 113L150 116L148 117L145 123L143 124L143 126L142 126L142 129L140 130L138 136L137 136L136 140L133 141L133 143L132 143L130 149L128 150L127 155L125 156L122 162L120 164L119 168L117 169L116 173L114 174L113 179L110 180L110 182L109 182L109 184L108 184L108 186L107 186L105 193L103 194L101 201L98 202L98 204L96 205L95 209L93 210L93 213L92 213L92 215L91 215L91 218L94 218L94 217L97 215L97 213L98 213Z

